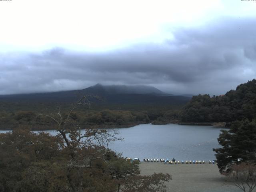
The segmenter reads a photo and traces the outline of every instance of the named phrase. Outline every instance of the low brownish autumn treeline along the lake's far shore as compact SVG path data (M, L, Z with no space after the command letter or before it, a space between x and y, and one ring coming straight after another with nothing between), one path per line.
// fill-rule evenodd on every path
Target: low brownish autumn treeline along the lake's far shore
M72 120L84 128L90 126L100 127L128 127L136 124L150 123L166 124L174 118L178 118L178 110L78 110L71 113ZM32 130L55 129L53 120L42 114L57 115L58 111L36 112L36 111L14 111L0 112L0 128L12 129L16 126L30 126ZM63 112L67 115L67 112Z

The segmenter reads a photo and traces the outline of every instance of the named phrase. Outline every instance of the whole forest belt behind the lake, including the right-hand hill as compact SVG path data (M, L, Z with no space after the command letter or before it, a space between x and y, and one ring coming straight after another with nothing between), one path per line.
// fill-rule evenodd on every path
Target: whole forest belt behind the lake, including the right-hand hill
M40 114L64 114L72 106L70 102L0 102L0 128L12 129L26 125L33 130L54 129L52 120ZM209 94L193 96L186 104L105 104L92 103L90 107L80 106L72 118L86 127L129 127L152 123L207 123L226 122L256 116L256 80L240 84L236 90L224 95Z

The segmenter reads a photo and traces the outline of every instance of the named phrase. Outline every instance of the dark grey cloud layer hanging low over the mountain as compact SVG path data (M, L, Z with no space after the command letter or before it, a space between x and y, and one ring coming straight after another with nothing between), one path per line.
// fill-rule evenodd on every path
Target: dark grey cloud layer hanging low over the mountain
M174 39L162 44L111 52L53 48L0 54L0 94L73 90L96 83L222 94L256 76L255 22L226 18L200 28L170 30Z

